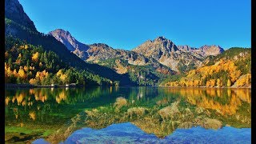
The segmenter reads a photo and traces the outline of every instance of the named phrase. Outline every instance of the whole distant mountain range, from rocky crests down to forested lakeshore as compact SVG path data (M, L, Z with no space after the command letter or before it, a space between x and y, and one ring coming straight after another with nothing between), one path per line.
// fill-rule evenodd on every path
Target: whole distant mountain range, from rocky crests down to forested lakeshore
M170 75L193 70L202 65L203 58L224 51L220 46L175 46L164 37L146 41L134 50L120 50L103 43L82 44L66 30L57 29L49 34L79 57L83 54L82 59L86 62L109 67L118 74L128 73L134 82L140 84L142 81L158 82Z

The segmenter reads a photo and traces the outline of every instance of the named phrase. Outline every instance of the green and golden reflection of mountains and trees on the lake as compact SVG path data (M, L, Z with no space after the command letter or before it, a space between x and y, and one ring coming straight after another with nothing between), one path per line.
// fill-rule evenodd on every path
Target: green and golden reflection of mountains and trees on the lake
M122 98L118 98L122 97ZM177 128L250 127L250 89L93 87L6 90L6 142L60 142L82 127L132 122L159 138ZM30 132L26 132L30 131ZM9 140L9 141L8 141Z

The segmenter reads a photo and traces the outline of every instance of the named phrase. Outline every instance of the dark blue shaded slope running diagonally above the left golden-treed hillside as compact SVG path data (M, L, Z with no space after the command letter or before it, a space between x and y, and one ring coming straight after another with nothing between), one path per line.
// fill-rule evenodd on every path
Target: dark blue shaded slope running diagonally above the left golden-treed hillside
M19 4L17 0L10 0L10 2L6 2L6 11L8 9L14 9L13 11L19 11L22 14L19 15L26 15L21 9L22 6L19 4L18 6L13 5ZM9 14L8 12L6 14ZM31 23L32 21L30 18L26 18L25 26L23 26L22 22L18 22L19 19L12 17L13 14L8 15L8 18L5 20L5 34L6 36L12 35L15 38L19 38L21 40L25 40L26 42L34 45L34 46L42 46L44 50L51 50L54 53L58 54L59 58L62 59L63 62L66 63L68 66L74 66L81 70L87 70L90 73L101 75L104 78L110 78L112 81L120 81L120 85L130 85L133 82L130 82L129 76L125 74L117 74L114 70L107 68L105 66L98 66L96 64L89 64L82 59L78 58L75 54L70 53L70 50L66 49L61 42L58 42L54 37L46 34L39 33L35 30L34 25L29 25L27 23Z

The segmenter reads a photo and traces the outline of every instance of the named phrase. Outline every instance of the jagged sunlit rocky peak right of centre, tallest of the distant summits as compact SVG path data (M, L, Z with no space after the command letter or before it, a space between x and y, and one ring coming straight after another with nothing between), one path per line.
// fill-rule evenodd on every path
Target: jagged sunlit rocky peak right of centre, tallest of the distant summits
M146 41L142 45L132 50L138 54L143 54L146 57L154 58L162 65L170 67L177 72L185 70L182 66L201 66L201 57L196 57L190 51L184 52L179 50L178 47L169 39L164 37L155 38L153 41Z

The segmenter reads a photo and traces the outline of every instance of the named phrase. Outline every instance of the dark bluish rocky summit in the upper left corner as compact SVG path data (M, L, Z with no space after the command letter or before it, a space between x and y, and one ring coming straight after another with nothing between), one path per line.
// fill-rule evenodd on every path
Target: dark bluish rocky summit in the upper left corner
M34 22L26 15L18 0L5 0L5 17L31 30L36 30Z

